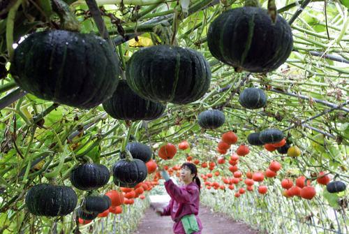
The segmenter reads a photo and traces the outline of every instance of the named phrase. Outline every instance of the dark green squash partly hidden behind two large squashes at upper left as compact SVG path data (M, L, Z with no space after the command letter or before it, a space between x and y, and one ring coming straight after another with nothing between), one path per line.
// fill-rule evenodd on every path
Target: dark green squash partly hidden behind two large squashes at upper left
M112 97L103 102L103 108L114 119L151 120L160 117L166 106L141 98L126 80L120 80Z

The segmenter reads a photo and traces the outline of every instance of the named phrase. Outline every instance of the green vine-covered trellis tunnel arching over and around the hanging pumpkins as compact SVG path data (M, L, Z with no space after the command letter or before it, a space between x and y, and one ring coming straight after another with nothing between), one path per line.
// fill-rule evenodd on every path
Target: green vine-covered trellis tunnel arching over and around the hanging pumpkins
M239 137L237 145L223 154L228 159L239 145L248 145L250 133L279 129L288 144L301 150L301 156L290 157L250 145L250 153L239 159L239 170L244 174L265 170L272 160L282 164L278 176L264 182L269 188L267 195L253 191L235 198L228 187L209 190L204 185L202 201L269 233L281 229L282 233L348 233L348 192L328 193L325 187L312 182L317 195L308 201L281 197L280 185L285 177L303 175L307 180L316 180L320 171L349 182L348 2L260 1L272 17L276 7L293 34L290 57L268 73L239 72L213 57L207 45L209 26L218 15L244 4L235 0L1 1L0 232L77 233L76 212L57 219L29 214L24 203L27 191L39 183L72 187L70 172L81 163L94 161L112 168L128 141L149 145L153 159L160 164L176 166L192 156L202 165L217 161L216 145L226 131L234 131ZM45 101L18 87L9 68L19 43L35 31L49 29L69 29L104 38L119 58L119 79L123 80L128 61L141 47L171 44L191 48L208 61L209 90L186 105L167 103L161 117L149 121L112 119L102 105L86 110ZM267 106L258 110L244 108L239 94L248 87L264 90ZM218 129L205 130L198 124L198 115L210 109L221 110L225 123ZM182 140L187 140L191 149L177 152L172 160L163 163L158 149ZM207 181L222 184L222 177L232 177L229 166L225 163L212 168L220 175ZM207 173L208 168L200 168L200 174ZM154 175L147 180L154 180ZM235 187L237 190L244 186ZM108 189L119 190L110 182L98 193ZM77 191L79 204L83 194L87 193ZM144 204L137 201L126 207L122 218L98 219L80 231L92 227L90 231L94 233L127 233L135 228L139 219L136 214L140 214L138 209L144 210Z

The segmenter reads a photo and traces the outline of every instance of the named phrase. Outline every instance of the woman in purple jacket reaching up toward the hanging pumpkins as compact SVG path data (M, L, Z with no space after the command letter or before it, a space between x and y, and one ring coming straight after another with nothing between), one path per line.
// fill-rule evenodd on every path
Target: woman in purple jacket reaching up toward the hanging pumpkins
M195 164L183 163L181 166L181 180L184 182L182 187L174 184L165 170L161 170L161 175L171 200L167 207L156 212L161 216L172 217L175 234L201 234L202 224L198 218L200 179Z

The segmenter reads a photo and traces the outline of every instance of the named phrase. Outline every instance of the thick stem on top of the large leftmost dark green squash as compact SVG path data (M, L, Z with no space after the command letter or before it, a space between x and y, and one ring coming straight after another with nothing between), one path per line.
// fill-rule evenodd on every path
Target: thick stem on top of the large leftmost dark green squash
M80 31L80 24L75 15L70 11L67 3L62 0L52 0L53 10L61 20L61 29L68 31Z

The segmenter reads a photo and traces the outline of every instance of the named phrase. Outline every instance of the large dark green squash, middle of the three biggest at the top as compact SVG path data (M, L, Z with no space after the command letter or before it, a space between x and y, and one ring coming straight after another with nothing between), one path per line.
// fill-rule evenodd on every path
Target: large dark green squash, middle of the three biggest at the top
M133 54L127 64L126 80L142 98L186 104L207 92L211 70L205 57L195 50L156 45Z

